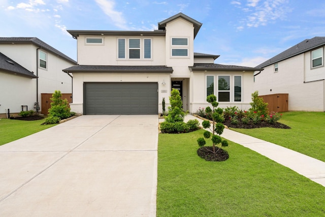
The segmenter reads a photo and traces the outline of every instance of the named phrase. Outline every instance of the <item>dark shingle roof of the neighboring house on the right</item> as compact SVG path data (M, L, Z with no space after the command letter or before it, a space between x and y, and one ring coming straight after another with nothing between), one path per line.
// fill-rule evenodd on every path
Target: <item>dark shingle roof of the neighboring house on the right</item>
M296 44L293 47L290 47L289 49L283 51L282 53L279 53L278 55L272 57L271 59L268 59L263 64L260 64L256 66L256 68L263 68L267 67L269 65L278 63L279 61L282 61L284 59L296 56L298 54L310 51L314 48L320 47L325 45L325 37L314 37L312 39L305 39L304 41L300 42L299 44Z

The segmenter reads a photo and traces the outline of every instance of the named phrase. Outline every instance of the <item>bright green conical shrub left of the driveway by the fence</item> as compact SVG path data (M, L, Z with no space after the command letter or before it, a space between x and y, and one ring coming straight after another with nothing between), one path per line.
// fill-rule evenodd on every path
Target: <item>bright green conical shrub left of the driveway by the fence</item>
M71 116L68 100L62 100L61 98L61 91L55 90L51 98L53 102L51 103L51 108L49 109L49 117L54 116L58 117L59 119L66 119Z

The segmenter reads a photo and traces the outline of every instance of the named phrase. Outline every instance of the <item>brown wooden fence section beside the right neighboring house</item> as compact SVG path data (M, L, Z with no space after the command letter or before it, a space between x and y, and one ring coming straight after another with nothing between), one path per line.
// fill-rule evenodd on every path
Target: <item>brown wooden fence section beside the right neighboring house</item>
M264 102L268 103L269 112L289 111L288 94L271 94L258 97L263 98Z

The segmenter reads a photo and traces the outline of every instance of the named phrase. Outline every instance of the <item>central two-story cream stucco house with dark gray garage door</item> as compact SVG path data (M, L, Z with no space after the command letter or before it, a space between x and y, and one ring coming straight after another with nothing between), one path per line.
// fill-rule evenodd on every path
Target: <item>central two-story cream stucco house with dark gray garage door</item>
M248 109L253 73L263 69L214 64L218 55L194 53L201 25L179 13L153 31L68 30L78 46L78 66L63 70L74 78L72 111L158 114L172 88L190 113L209 106L210 94L221 107Z

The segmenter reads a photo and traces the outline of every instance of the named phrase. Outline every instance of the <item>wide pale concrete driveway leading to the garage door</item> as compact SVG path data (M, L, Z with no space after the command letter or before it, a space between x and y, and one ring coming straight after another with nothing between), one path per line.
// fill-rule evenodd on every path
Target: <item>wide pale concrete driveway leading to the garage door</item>
M0 216L155 216L157 115L83 115L0 146Z

